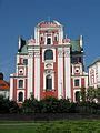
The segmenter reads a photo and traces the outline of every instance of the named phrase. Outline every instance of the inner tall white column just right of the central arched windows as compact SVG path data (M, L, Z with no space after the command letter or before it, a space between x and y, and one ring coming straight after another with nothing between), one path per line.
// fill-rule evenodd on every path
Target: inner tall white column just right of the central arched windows
M58 48L58 99L63 96L63 51Z

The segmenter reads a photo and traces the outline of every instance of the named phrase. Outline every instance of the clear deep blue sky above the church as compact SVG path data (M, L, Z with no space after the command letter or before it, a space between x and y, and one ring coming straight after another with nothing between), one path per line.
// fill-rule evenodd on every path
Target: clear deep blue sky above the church
M100 0L0 0L0 72L16 72L18 37L28 40L41 21L57 20L64 34L83 35L86 68L100 57Z

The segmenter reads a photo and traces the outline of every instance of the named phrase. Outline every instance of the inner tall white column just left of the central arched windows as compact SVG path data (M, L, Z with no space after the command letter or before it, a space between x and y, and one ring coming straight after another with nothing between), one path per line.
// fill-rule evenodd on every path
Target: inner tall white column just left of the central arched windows
M40 51L34 52L34 98L40 100Z

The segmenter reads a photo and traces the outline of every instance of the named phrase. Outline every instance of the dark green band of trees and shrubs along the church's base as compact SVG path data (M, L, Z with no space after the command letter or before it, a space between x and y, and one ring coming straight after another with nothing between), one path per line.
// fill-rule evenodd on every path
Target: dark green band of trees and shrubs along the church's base
M98 90L97 90L98 91ZM17 102L0 96L0 113L100 113L100 104L93 102L91 90L87 93L88 101L73 103L69 99L46 98L26 100L19 108ZM94 92L93 92L94 93ZM19 110L20 109L20 110Z

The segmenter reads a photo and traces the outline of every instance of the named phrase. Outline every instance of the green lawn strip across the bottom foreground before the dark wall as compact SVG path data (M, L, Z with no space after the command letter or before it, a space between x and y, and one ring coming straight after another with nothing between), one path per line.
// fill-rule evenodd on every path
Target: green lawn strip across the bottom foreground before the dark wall
M0 122L0 133L100 133L100 121Z

